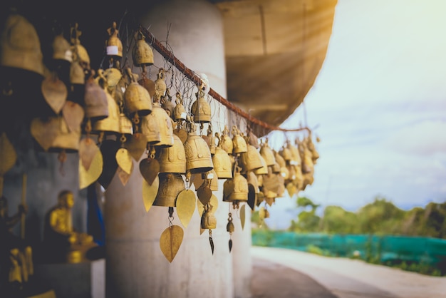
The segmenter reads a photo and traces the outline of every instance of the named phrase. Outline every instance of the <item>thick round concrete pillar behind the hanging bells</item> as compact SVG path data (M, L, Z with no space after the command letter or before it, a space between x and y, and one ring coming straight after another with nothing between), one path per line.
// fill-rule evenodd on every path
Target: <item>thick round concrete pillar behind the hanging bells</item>
M168 43L175 56L196 73L206 73L210 86L226 96L222 19L215 6L204 0L159 1L140 20L161 41L170 29ZM156 78L156 67L163 67L163 63L155 52L152 80ZM226 111L217 108L216 103L211 106L212 124L217 131L217 121L224 121ZM232 255L227 246L228 207L222 202L224 181L219 181L219 191L215 193L219 207L215 213L217 229L212 232L214 255L208 232L199 233L197 210L187 229L175 211L173 224L185 230L185 237L169 263L159 245L162 231L169 226L168 208L152 206L145 212L138 163L134 167L126 186L115 175L105 192L107 297L234 297Z

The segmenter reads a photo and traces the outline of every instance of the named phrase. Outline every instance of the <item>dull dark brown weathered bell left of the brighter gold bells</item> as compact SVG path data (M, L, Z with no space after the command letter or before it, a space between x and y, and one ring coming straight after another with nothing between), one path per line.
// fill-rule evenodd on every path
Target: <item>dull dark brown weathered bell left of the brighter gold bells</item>
M76 62L73 62L75 64ZM118 107L110 96L103 88L101 88L98 83L95 83L93 80L88 80L85 83L85 93L84 93L84 102L85 102L85 117L90 118L91 120L100 120L103 118L107 118L109 115L109 107L108 102L113 101L114 108Z

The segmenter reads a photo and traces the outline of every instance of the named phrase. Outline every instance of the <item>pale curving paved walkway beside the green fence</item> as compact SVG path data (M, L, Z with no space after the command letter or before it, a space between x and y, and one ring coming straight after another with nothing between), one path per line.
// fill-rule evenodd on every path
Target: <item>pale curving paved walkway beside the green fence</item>
M446 298L446 277L360 260L251 247L254 298Z

